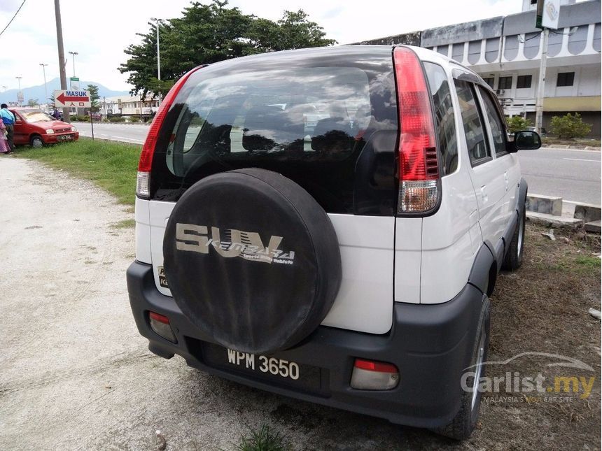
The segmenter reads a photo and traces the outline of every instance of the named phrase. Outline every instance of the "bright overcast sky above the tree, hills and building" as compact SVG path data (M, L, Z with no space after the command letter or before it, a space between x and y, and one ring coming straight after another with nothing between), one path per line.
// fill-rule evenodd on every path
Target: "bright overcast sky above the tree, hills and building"
M0 31L18 10L22 0L0 0ZM127 74L117 67L125 62L123 50L139 43L136 33L148 31L151 17L180 17L190 0L61 0L64 51L73 76L69 51L78 52L76 76L94 80L113 90L129 90ZM209 3L204 0L201 3ZM409 7L409 5L412 5ZM278 20L283 10L302 8L310 20L323 27L328 38L352 43L418 31L430 27L508 15L521 11L521 0L419 0L324 1L231 0L245 14ZM48 64L46 78L59 76L54 1L26 0L10 27L0 36L0 90L43 84L40 63ZM200 62L199 62L200 63Z

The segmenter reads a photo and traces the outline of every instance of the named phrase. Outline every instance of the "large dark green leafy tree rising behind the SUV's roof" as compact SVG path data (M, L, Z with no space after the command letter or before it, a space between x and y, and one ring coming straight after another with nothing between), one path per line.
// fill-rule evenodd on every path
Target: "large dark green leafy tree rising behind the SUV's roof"
M118 68L121 73L129 73L132 95L165 95L175 80L199 64L336 42L325 38L322 27L309 21L303 10L284 11L282 18L273 22L227 5L228 1L214 0L208 5L193 1L184 8L182 17L160 25L162 80L157 78L157 29L148 22L148 33L139 34L141 43L124 50L128 59Z

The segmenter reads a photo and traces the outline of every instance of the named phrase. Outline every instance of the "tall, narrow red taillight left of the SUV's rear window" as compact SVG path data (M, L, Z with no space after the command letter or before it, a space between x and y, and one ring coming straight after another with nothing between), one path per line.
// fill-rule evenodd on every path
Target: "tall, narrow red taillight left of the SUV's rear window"
M148 129L146 141L144 141L144 145L142 145L142 153L140 154L140 161L138 162L138 178L136 184L136 195L138 197L148 199L148 197L151 196L151 167L153 166L153 154L155 153L155 145L157 144L161 125L165 120L165 116L169 113L169 108L172 108L174 99L176 99L176 96L182 89L184 83L188 80L188 77L201 67L203 66L195 67L192 71L184 74L184 76L172 86L172 89L169 90L167 96L165 96L165 99L161 102L157 114L155 114L151 128Z

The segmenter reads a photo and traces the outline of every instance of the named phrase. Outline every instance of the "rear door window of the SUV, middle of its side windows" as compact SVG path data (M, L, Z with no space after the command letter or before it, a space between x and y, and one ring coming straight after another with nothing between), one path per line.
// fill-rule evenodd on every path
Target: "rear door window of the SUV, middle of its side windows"
M466 145L468 145L468 157L470 157L470 164L476 166L491 158L489 142L485 138L483 122L475 100L472 83L462 80L454 80L454 83L460 103Z

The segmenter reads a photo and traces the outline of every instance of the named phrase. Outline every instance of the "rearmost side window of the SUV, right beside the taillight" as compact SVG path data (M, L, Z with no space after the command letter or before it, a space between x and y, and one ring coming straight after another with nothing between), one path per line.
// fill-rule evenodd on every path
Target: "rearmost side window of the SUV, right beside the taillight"
M435 127L442 156L443 175L451 174L458 168L458 143L456 141L456 117L451 103L451 92L447 75L441 66L424 63L426 78L435 107Z

